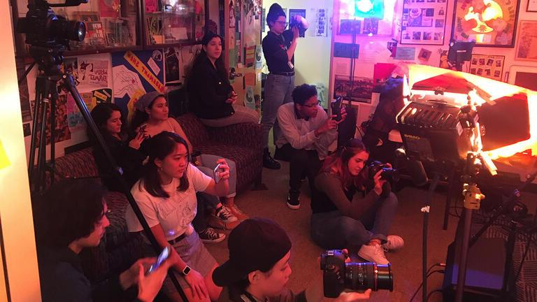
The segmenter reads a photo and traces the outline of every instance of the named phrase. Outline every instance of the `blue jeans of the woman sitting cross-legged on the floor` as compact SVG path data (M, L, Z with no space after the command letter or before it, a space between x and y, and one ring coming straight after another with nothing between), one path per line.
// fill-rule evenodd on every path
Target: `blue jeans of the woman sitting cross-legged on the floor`
M339 210L313 214L311 237L317 245L328 250L347 248L357 251L371 239L386 243L398 202L397 196L390 193L387 198L376 201L359 220L344 216Z

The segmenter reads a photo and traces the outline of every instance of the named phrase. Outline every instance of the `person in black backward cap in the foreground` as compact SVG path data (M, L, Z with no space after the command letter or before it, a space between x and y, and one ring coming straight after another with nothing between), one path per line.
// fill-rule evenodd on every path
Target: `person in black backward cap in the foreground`
M229 234L229 260L213 272L216 285L223 287L218 301L293 302L322 301L322 271L318 269L313 284L299 294L286 287L292 273L289 266L291 240L278 224L264 218L241 222ZM336 301L369 299L364 293L342 292Z

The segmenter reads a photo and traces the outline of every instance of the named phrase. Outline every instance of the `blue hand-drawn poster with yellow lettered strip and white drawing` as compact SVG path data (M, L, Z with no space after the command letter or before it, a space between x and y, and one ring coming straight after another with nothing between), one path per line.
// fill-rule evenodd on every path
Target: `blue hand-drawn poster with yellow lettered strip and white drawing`
M114 52L112 73L114 103L131 120L134 103L146 92L164 92L164 59L161 50ZM151 60L158 69L150 66ZM152 63L151 63L152 64ZM155 73L158 71L158 73Z

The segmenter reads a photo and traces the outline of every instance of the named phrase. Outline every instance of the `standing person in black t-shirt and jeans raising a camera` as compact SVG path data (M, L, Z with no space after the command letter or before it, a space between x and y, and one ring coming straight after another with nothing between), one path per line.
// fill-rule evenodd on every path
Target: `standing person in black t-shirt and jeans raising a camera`
M294 17L296 22L302 22L301 16ZM278 3L268 9L266 23L270 29L263 38L262 47L268 66L268 76L265 82L263 114L261 117L263 134L263 166L279 169L280 163L275 161L268 152L268 133L273 129L274 142L280 135L276 122L276 113L283 103L292 101L291 92L294 89L294 51L299 39L299 27L287 27L286 15Z

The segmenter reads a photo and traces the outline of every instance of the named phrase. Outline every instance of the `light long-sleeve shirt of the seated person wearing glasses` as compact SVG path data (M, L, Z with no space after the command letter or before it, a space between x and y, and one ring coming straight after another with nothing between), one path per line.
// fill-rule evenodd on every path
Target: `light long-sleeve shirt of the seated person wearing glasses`
M278 124L282 130L282 134L276 140L278 148L289 143L294 149L317 150L320 160L327 156L328 148L338 137L338 132L336 129L331 129L315 136L315 129L329 118L321 106L317 107L317 116L308 120L296 115L293 102L285 103L278 108Z

